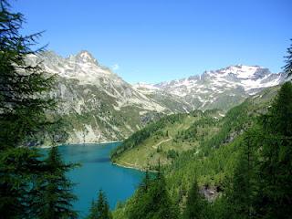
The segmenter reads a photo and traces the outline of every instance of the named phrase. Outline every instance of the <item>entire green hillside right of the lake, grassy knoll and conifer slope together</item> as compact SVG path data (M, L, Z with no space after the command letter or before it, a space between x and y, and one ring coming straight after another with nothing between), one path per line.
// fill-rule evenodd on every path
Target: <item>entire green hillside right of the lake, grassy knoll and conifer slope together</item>
M224 190L226 179L235 172L244 150L246 130L255 128L255 121L266 113L278 89L265 89L222 118L216 117L220 113L216 110L164 117L130 136L112 152L112 160L120 165L133 164L135 168L154 168L159 160L168 163L162 168L166 186L175 205L182 209L193 182L199 184L207 199L214 200ZM162 149L153 149L157 142L162 142ZM171 158L167 157L170 150L177 152ZM147 166L150 161L152 166ZM127 218L135 197L116 209L115 218Z

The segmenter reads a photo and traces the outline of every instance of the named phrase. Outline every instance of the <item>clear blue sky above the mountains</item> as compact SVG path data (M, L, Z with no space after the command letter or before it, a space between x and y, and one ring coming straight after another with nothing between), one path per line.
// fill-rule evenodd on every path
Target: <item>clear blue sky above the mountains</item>
M292 41L291 0L11 0L23 34L68 57L88 50L130 83L230 65L279 72Z

